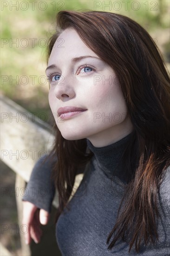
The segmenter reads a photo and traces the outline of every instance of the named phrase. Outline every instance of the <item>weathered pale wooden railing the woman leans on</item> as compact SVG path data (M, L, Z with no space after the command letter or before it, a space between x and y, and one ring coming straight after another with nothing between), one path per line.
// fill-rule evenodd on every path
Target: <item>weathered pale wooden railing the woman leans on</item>
M0 97L1 132L0 132L0 157L7 166L16 173L15 187L23 189L29 181L34 164L41 155L48 154L54 135L52 128L40 121L33 114L28 113L14 101L5 96ZM74 184L74 193L81 182L83 175L77 175ZM57 195L57 193L56 193ZM16 197L19 225L22 225L22 195ZM58 197L55 196L52 204L58 207ZM26 245L24 235L20 233L20 242L23 256L30 256L30 247ZM10 255L1 245L1 253ZM2 255L2 254L1 254Z

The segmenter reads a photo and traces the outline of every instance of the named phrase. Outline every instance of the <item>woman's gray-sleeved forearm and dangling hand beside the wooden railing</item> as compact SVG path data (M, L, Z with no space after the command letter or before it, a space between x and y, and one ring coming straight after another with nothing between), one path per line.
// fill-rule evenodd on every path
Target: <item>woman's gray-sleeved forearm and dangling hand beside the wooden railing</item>
M39 159L26 186L25 195L22 198L22 224L26 225L28 229L24 235L27 244L31 242L31 238L35 243L39 243L42 234L40 223L47 224L48 222L55 195L55 186L51 175L53 164L56 161L57 159L52 156L48 157L46 161L43 158Z

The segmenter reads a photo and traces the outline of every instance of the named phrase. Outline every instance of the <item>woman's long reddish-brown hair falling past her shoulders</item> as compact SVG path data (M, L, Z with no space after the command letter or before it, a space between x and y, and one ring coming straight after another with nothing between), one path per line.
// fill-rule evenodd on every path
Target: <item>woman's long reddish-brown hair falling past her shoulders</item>
M108 12L60 11L57 30L48 44L49 58L59 34L74 28L84 43L115 71L121 84L128 115L134 127L124 153L131 179L119 208L118 218L107 239L111 249L118 239L129 237L129 251L140 243L158 239L157 193L163 171L170 165L170 78L163 58L150 35L135 21ZM93 153L86 140L65 140L56 128L57 157L54 179L59 192L57 219L72 193L78 168L85 166ZM136 159L135 169L131 160Z

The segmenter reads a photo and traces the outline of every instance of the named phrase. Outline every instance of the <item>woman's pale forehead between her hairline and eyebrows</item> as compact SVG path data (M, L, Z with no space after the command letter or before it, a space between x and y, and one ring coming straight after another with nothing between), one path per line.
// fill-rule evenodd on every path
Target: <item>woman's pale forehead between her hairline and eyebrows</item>
M74 58L80 55L92 55L98 57L79 37L73 28L65 29L55 41L49 58L49 64L53 64L56 58ZM53 62L53 63L52 63Z

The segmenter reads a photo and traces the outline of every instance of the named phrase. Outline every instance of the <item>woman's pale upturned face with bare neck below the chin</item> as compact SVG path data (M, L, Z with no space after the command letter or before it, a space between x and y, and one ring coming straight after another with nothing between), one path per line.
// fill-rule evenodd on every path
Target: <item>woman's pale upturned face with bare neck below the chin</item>
M60 34L48 67L49 104L66 140L87 138L95 147L103 147L131 133L133 127L114 70L85 45L74 29L67 28ZM61 110L58 114L58 109L64 107L81 109L65 108L65 113Z

